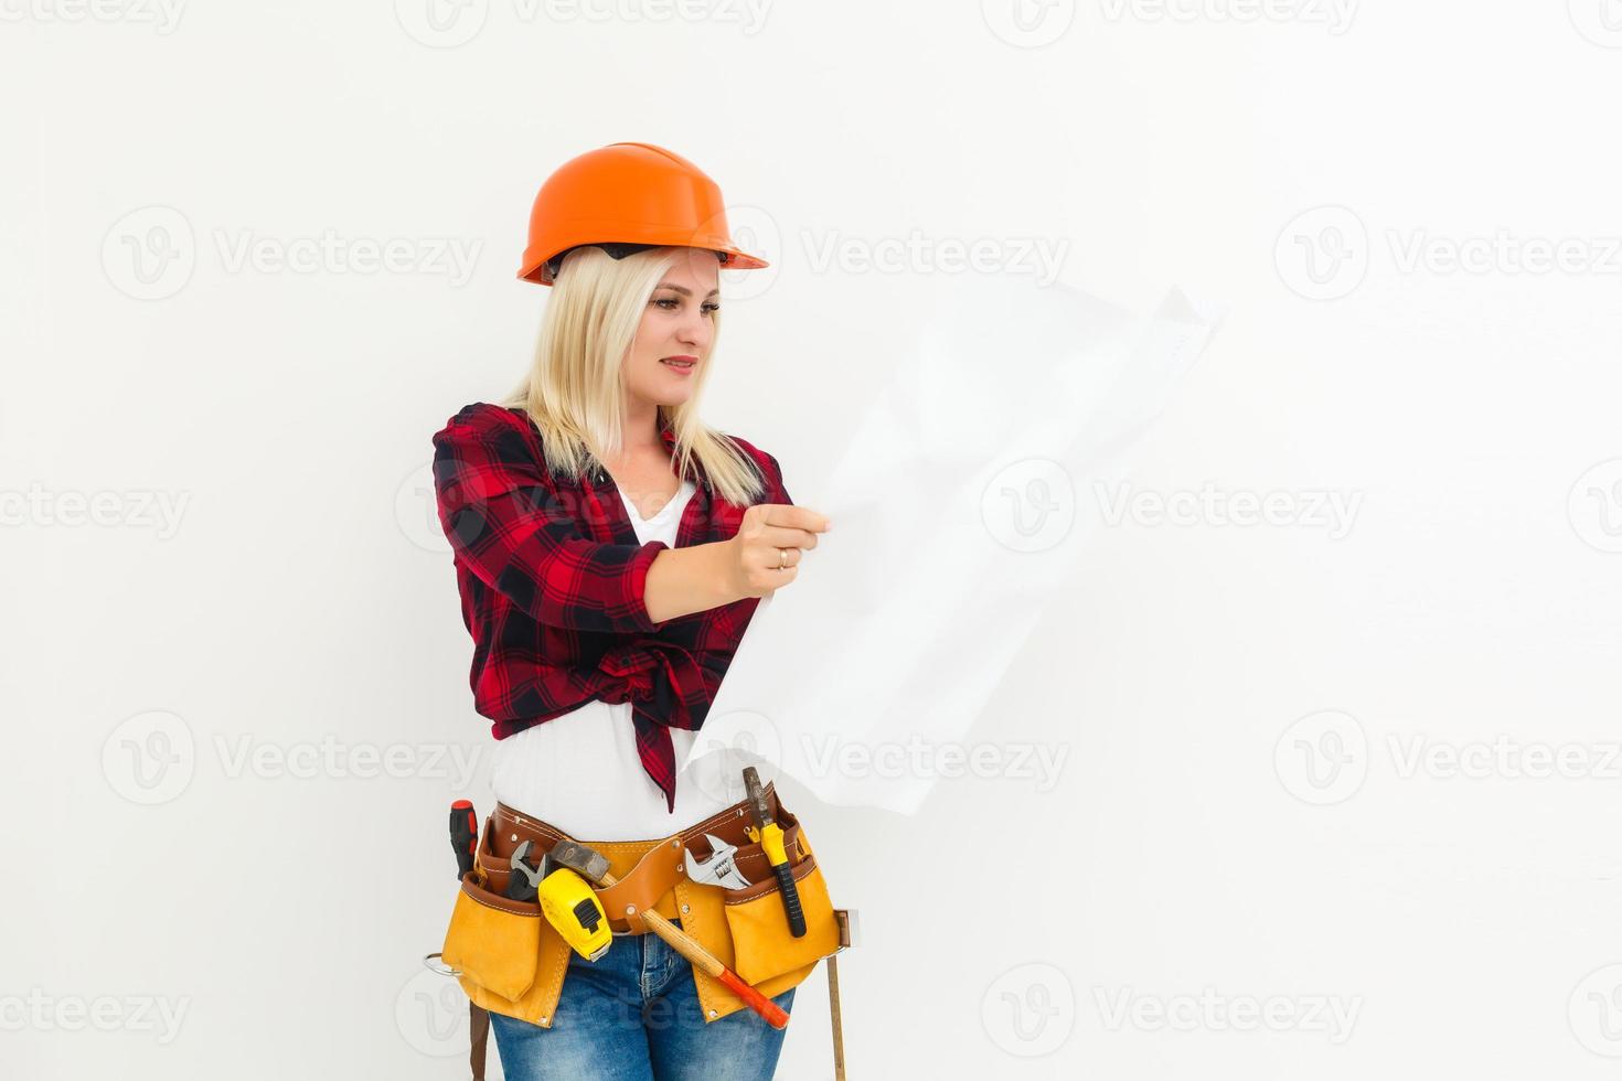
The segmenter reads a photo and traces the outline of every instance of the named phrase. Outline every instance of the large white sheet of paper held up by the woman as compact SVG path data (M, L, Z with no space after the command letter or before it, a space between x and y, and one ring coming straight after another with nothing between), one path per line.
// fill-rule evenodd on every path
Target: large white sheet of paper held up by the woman
M1028 279L933 295L824 493L796 493L834 528L757 606L683 763L719 797L753 763L829 804L916 812L1080 570L1088 493L1215 329L1179 292L1150 316ZM920 754L936 765L908 768Z

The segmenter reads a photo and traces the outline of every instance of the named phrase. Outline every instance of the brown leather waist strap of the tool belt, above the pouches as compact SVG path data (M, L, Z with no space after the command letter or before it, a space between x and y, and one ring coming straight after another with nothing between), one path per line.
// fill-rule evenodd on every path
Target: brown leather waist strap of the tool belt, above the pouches
M783 828L785 849L795 852L798 848L798 856L805 857L800 820L777 802L774 784L767 783L764 791L772 817ZM642 922L642 912L647 909L654 909L665 919L680 921L681 912L673 887L686 878L686 849L693 849L699 859L709 859L710 843L706 835L736 846L738 852L733 859L738 870L756 883L751 891L769 893L775 882L772 867L761 846L749 841L748 825L748 801L738 801L704 822L657 841L582 841L608 861L608 870L618 878L615 885L597 890L597 898L608 914L610 930L618 935L647 934L647 924ZM540 854L551 851L558 841L576 840L540 818L498 802L495 812L485 820L483 840L478 844L478 865L487 877L487 888L493 893L506 891L508 877L513 874L513 852L524 841L532 843L530 861L534 862ZM743 891L736 896L746 898L749 893Z

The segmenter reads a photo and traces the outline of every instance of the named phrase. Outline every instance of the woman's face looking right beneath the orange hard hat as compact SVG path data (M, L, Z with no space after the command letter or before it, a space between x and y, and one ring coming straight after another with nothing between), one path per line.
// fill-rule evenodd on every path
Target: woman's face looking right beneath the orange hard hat
M624 389L654 405L681 405L715 340L720 261L712 251L683 248L688 258L659 279L624 358Z

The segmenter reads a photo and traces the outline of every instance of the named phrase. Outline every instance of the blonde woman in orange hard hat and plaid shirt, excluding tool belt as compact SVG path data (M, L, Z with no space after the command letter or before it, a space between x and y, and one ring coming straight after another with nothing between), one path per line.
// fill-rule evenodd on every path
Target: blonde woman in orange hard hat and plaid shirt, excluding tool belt
M564 164L519 271L553 290L534 368L433 438L496 799L587 843L670 838L732 805L676 768L759 598L829 528L770 454L697 420L723 264L766 266L691 162L616 143ZM701 1008L654 934L571 955L560 995L556 1024L491 1010L513 1081L770 1078L782 1047L749 1010Z

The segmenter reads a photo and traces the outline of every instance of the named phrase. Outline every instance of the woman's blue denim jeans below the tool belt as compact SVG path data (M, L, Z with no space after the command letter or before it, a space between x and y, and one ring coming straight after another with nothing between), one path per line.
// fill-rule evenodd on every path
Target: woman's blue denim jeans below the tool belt
M508 1081L767 1081L787 1032L748 1006L706 1024L691 964L655 934L615 935L595 963L569 953L550 1029L491 1013L490 1031Z

